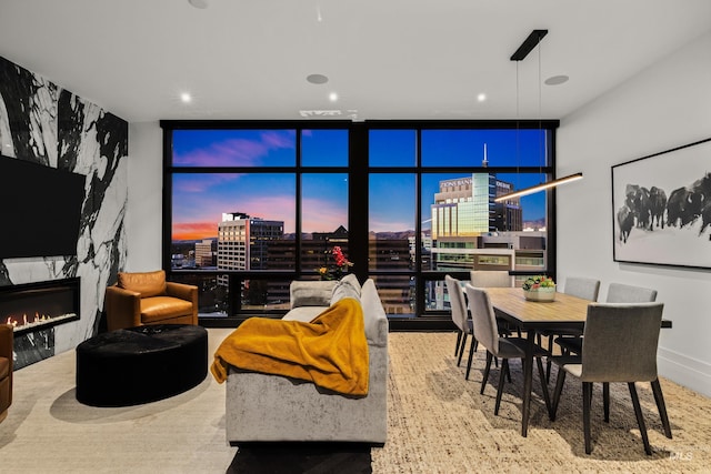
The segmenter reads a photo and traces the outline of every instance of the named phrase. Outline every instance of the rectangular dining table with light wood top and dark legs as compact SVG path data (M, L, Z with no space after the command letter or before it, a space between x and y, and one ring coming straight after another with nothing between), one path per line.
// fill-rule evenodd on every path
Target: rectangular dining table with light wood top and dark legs
M539 331L554 333L560 330L579 331L582 334L591 301L559 292L555 293L553 301L531 301L525 299L520 288L487 288L485 290L497 317L511 323L521 333L525 332L521 435L527 436L533 385L535 334ZM671 321L662 320L662 327L671 327ZM543 387L543 390L547 389Z

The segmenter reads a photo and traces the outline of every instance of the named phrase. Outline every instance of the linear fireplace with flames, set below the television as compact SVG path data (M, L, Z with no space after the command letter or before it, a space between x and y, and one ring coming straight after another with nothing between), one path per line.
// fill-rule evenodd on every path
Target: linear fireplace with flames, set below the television
M77 321L79 278L0 286L0 322L14 334Z

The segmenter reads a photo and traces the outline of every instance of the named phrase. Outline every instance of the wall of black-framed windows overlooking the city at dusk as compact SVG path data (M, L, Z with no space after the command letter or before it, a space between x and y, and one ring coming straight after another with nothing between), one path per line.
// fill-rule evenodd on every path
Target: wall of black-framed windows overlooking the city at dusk
M164 266L203 320L282 314L340 246L402 324L442 320L443 275L554 272L557 122L161 122ZM489 265L489 266L487 266Z

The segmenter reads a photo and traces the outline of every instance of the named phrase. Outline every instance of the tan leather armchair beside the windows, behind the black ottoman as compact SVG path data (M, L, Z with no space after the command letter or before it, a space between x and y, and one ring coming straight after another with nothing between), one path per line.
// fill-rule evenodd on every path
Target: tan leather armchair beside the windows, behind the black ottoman
M166 272L119 273L107 288L109 331L148 324L198 324L198 286L166 281Z

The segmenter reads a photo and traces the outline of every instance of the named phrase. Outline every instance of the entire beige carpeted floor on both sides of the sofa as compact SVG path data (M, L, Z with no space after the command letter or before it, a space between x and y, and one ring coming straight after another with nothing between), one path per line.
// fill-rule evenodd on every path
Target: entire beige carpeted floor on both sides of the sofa
M231 330L210 329L210 354ZM642 447L629 392L612 386L611 422L593 400L593 447L585 455L580 387L569 379L550 422L534 379L528 437L521 428L521 365L512 363L499 416L495 377L479 394L483 352L469 381L457 367L453 333L391 333L389 437L371 450L373 473L709 472L711 400L662 380L673 440L661 432L648 386L640 397L654 455ZM74 352L16 373L14 401L0 423L0 473L226 473L237 448L224 438L224 386L209 375L160 402L97 409L74 399ZM293 472L293 471L284 471ZM342 471L341 471L342 473Z

